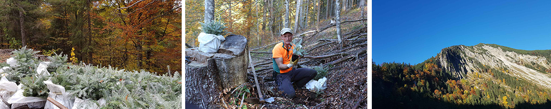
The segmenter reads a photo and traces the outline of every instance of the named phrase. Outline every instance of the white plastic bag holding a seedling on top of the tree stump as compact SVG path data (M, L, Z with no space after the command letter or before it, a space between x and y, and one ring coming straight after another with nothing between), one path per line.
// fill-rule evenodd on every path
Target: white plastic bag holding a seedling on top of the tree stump
M199 33L199 36L197 38L199 41L199 50L203 51L204 53L216 53L216 51L218 51L218 48L220 47L220 43L226 40L224 36L216 36L204 32Z

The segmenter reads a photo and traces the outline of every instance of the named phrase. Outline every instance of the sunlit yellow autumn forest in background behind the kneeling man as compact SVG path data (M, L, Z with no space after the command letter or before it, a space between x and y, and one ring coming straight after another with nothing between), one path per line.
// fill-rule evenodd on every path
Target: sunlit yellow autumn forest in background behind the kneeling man
M349 10L360 8L361 2L360 0L341 1L339 7L343 13L348 13ZM365 4L365 1L363 3ZM294 31L296 28L295 33L298 35L326 26L336 17L335 6L334 0L222 0L214 1L214 20L225 23L228 27L225 31L247 37L250 47L260 47L280 41L276 36L283 27L289 27ZM285 18L286 12L288 18ZM298 15L296 15L297 12L299 12ZM198 47L197 36L202 32L200 22L204 20L204 1L186 1L185 20L185 41L187 44ZM342 20L356 19L342 18Z

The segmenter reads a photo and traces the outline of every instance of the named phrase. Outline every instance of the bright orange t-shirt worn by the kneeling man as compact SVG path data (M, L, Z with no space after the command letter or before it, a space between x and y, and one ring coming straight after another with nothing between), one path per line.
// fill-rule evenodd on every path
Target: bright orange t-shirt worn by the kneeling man
M295 48L295 44L291 43L291 48L287 49L284 47L283 42L276 44L274 46L274 49L272 49L272 62L274 70L279 70L279 67L276 63L276 58L283 58L283 64L287 65L291 62L291 57L293 57L293 49ZM279 70L279 73L287 73L289 71L293 70L293 67L288 68L287 70Z

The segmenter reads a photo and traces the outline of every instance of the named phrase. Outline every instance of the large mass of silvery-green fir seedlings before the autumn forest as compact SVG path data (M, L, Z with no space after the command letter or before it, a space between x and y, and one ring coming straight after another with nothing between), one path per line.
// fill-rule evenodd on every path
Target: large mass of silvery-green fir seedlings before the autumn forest
M179 72L156 76L144 70L71 65L67 55L58 54L48 57L51 62L42 62L47 63L47 72L37 72L41 62L33 55L38 52L25 47L13 51L17 66L2 73L22 85L24 96L48 97L44 81L51 81L64 87L71 100L77 99L71 105L76 108L181 108Z

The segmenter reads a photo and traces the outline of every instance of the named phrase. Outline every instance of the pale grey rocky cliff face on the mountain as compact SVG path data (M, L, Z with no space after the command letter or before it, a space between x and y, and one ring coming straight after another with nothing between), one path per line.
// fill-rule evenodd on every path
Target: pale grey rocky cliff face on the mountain
M551 50L518 50L483 43L456 45L442 49L436 55L436 61L457 79L470 79L475 72L494 68L551 89ZM488 73L480 74L482 77L492 76Z

